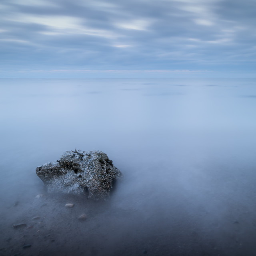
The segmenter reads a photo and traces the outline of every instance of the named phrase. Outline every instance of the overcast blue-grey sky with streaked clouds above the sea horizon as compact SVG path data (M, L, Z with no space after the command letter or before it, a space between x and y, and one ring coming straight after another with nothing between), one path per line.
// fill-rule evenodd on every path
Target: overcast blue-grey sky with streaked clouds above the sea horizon
M255 0L1 0L0 77L254 76Z

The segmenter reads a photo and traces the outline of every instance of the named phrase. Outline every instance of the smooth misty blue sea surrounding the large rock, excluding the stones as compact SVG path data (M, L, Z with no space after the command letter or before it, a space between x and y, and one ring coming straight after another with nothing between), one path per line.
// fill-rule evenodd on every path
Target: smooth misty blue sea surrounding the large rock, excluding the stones
M1 255L255 254L255 78L1 79L0 109ZM36 176L75 148L123 173L106 202Z

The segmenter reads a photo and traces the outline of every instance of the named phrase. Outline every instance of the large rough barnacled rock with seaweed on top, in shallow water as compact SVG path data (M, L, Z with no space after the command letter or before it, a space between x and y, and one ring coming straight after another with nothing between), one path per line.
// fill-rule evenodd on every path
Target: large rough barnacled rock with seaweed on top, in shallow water
M86 194L93 199L106 199L112 189L113 180L121 172L101 151L66 151L57 162L36 168L36 174L48 191Z

